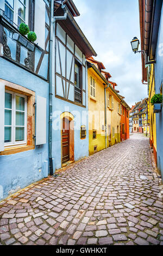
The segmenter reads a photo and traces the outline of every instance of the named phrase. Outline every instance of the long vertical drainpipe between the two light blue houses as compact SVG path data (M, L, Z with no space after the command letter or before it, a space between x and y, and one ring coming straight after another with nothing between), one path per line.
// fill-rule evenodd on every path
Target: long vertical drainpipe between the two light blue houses
M55 27L56 20L66 20L67 12L66 5L62 5L64 16L54 17L54 0L51 1L51 19L50 19L50 39L49 39L49 169L50 174L53 175L53 159L52 159L52 115L53 115L53 25ZM55 170L54 170L55 171Z

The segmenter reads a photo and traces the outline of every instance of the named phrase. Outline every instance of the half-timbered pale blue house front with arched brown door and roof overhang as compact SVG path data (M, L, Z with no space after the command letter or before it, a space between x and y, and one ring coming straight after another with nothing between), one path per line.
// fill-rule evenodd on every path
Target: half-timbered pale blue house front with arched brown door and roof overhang
M74 17L79 15L73 1L54 1L54 17L67 19L54 23L53 52L53 132L52 157L58 169L89 154L87 65L96 56ZM58 121L59 120L59 121Z

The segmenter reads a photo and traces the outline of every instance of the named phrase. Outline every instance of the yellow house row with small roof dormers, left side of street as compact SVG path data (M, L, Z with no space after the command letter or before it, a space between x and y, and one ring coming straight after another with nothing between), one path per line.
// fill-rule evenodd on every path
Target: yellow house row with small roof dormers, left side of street
M122 99L101 62L87 59L89 100L89 154L121 142Z

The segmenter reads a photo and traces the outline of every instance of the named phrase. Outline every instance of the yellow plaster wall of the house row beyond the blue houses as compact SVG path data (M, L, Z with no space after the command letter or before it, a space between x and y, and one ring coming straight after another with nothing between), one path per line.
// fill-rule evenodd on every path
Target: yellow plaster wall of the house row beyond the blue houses
M91 76L96 81L96 97L91 96ZM96 153L105 148L105 101L104 101L104 81L92 68L88 69L88 96L89 96L89 154ZM114 108L111 109L111 99L108 106L108 93L114 97ZM106 132L107 147L121 142L120 122L121 115L118 114L118 103L121 100L110 89L106 89ZM111 140L109 139L109 126L111 129ZM118 130L117 130L118 126ZM115 135L112 134L112 127L115 128ZM93 139L93 130L96 130L96 139ZM95 147L97 146L97 150Z

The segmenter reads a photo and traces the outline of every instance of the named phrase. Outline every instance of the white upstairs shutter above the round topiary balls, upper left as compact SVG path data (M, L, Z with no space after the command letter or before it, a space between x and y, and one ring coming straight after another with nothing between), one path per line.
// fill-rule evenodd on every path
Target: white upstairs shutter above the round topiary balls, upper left
M35 33L37 35L36 44L45 50L45 11L46 4L43 0L35 1Z

